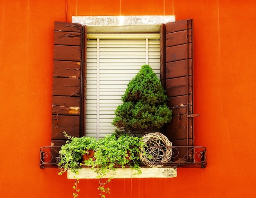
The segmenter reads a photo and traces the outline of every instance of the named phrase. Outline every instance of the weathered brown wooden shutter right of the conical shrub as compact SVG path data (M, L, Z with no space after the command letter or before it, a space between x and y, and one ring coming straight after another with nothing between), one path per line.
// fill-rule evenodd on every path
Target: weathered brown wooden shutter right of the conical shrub
M160 29L161 82L169 97L173 119L163 128L173 146L193 146L193 20L162 24ZM178 147L180 157L187 147ZM175 156L176 154L174 154ZM190 160L192 154L187 154Z

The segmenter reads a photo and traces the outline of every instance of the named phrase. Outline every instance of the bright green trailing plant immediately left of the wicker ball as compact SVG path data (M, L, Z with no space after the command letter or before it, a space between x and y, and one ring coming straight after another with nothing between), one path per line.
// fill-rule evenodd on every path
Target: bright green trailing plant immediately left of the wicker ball
M144 147L141 138L122 135L118 138L112 134L105 136L97 141L97 149L94 153L95 160L90 158L85 160L87 166L92 166L92 169L97 173L99 179L100 197L105 197L103 193L109 194L110 189L105 188L105 185L112 180L109 178L103 182L102 178L111 170L115 171L117 167L130 167L136 169L138 174L141 173L138 165L140 152L139 147Z

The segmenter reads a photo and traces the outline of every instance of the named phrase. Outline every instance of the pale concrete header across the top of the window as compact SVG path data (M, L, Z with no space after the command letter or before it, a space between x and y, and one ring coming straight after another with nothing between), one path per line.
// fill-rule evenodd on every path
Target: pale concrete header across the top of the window
M86 25L88 33L153 33L162 23L173 21L174 15L72 16L72 22Z

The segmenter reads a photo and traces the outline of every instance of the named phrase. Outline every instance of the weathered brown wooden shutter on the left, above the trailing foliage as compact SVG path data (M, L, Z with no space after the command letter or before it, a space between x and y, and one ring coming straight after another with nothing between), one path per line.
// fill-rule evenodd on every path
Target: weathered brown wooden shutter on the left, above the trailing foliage
M84 135L85 27L55 22L52 90L52 145Z

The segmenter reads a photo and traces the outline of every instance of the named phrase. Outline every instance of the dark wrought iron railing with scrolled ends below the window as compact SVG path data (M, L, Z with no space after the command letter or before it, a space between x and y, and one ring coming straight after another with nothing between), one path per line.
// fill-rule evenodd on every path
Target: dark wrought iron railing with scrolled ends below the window
M201 146L172 146L172 147L151 147L153 156L162 155L165 149L171 149L171 158L166 162L153 158L147 162L139 162L140 167L200 167L207 166L206 147ZM40 168L57 168L60 146L40 148ZM165 158L165 156L163 156Z

